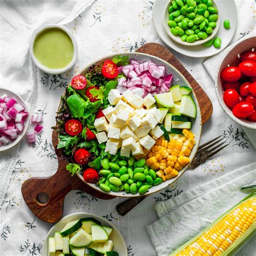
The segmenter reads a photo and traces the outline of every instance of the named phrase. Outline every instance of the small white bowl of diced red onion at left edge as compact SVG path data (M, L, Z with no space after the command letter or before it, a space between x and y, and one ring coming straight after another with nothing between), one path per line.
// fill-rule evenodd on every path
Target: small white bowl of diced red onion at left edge
M16 93L0 89L0 152L17 145L29 127L28 109Z

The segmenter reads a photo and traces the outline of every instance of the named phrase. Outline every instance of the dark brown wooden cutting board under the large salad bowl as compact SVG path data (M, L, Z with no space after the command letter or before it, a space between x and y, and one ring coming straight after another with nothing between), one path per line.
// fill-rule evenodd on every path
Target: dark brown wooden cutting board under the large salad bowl
M197 95L201 110L202 122L205 123L206 120L211 117L211 100L208 98L196 80L168 49L157 43L148 43L140 47L137 52L157 56L166 62L169 62L176 69L178 69L188 80L188 83L191 84L194 92ZM52 132L52 144L56 149L58 144L58 136L56 131ZM30 210L39 219L48 223L55 223L56 221L60 220L63 214L64 198L71 190L81 190L104 200L114 198L113 196L101 193L87 186L77 176L71 177L70 173L66 171L66 165L68 164L67 161L63 160L59 156L57 156L57 158L58 169L53 176L46 178L30 178L22 185L22 196ZM46 200L41 199L40 195L42 195L42 193L44 197L48 197Z

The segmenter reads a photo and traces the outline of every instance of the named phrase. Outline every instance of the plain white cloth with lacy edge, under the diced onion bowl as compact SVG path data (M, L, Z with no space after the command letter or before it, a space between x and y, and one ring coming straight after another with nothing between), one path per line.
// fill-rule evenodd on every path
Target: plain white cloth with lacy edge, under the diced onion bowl
M37 99L36 67L29 57L34 30L48 23L67 24L95 0L2 0L0 8L0 87L18 93L30 117ZM54 10L54 15L52 10ZM8 43L9 42L9 43ZM19 145L0 153L0 208L17 162Z

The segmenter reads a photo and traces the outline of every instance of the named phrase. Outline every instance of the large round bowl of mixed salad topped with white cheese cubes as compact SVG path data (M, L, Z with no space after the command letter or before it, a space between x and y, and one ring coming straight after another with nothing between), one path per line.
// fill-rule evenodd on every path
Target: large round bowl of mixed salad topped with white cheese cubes
M172 184L201 136L198 101L186 78L145 53L120 53L86 66L66 87L56 122L67 171L118 197Z

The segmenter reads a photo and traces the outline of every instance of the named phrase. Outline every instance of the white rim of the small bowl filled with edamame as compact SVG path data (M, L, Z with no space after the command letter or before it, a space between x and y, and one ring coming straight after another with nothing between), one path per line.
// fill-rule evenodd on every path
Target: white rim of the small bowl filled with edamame
M185 45L185 46L196 46L196 45L200 45L200 44L204 44L206 42L208 42L209 40L211 40L218 32L219 30L219 27L220 27L220 17L218 17L217 19L217 23L216 23L216 26L215 28L213 29L213 32L211 33L210 36L208 36L206 39L202 40L202 39L199 39L198 41L194 41L193 43L187 43L187 42L183 42L181 41L180 39L180 36L174 36L172 35L171 31L170 31L170 27L169 25L167 24L167 22L169 21L169 6L170 6L170 3L172 3L174 0L171 0L167 5L166 5L166 8L165 8L165 13L164 13L164 28L165 28L165 32L167 33L167 35L173 40L175 41L176 43L178 44L182 44L182 45ZM213 6L215 8L218 9L217 5L215 2L213 2Z

